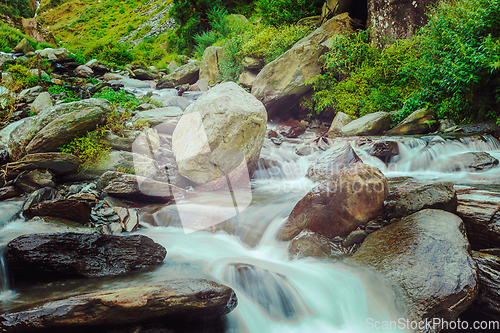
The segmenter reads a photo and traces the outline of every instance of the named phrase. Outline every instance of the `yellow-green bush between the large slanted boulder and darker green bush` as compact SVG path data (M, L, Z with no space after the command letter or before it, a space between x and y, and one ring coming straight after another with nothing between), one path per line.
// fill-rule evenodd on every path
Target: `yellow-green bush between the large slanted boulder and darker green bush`
M377 111L397 111L415 93L416 78L407 70L418 61L417 39L400 40L378 50L368 33L359 31L332 39L322 57L324 74L311 82L315 94L311 111L342 111L352 118Z

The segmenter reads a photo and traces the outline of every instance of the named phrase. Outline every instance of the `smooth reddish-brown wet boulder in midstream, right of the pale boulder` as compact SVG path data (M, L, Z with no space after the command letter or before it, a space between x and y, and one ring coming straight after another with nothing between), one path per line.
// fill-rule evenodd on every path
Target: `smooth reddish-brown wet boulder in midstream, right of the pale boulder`
M383 213L388 192L387 179L377 168L356 163L341 169L295 205L278 238L291 240L302 230L345 237Z

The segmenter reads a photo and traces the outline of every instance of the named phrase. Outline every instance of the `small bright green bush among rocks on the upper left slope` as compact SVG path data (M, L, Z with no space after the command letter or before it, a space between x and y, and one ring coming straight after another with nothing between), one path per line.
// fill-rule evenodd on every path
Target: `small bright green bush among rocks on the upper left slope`
M83 57L87 60L99 59L118 66L124 66L134 60L125 44L113 41L101 41L90 45L83 53Z

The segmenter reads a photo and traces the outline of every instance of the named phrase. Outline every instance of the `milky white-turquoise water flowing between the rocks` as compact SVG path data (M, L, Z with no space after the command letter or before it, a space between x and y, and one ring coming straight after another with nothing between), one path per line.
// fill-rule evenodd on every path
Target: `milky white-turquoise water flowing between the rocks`
M397 141L400 154L388 164L370 156L366 148L354 142L353 146L365 163L380 168L393 183L397 179L422 183L452 180L477 189L473 196L500 198L500 167L469 172L457 158L458 154L474 151L500 158L500 143L495 138L428 136ZM271 167L263 163L256 172L250 206L213 230L185 233L174 205L142 210L146 228L138 233L168 251L165 264L155 271L122 278L37 284L13 292L8 290L0 261L2 306L8 309L45 298L189 277L212 279L235 290L238 306L227 315L227 332L367 332L367 320L397 320L400 312L396 294L377 274L341 261L291 260L287 243L276 240L294 205L315 185L305 173L321 150L299 156L295 153L297 143L290 140L279 147L266 146L267 155L275 163ZM187 205L193 209L200 205L217 207L214 195L192 200ZM20 202L0 202L0 246L21 234L58 230L42 222L26 223L17 215L20 207Z

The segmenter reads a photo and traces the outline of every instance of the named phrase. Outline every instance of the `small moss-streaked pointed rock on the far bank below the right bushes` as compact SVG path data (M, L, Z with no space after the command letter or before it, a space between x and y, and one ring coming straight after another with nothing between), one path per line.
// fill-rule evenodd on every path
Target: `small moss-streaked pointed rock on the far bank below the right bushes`
M426 134L437 128L436 114L431 109L420 109L413 112L393 129L388 135Z

